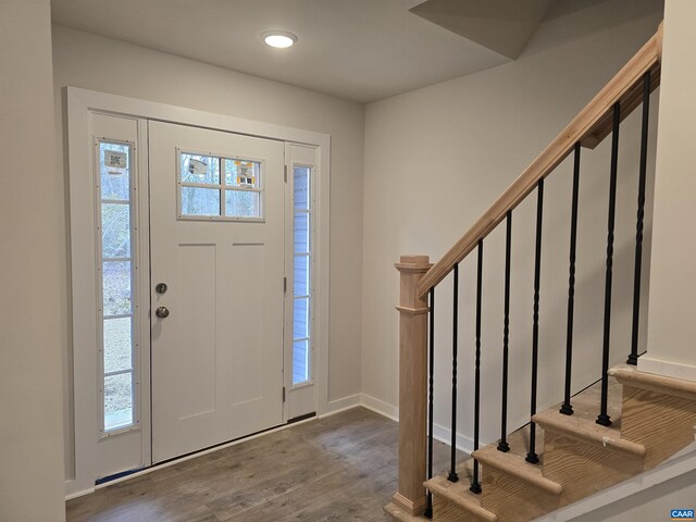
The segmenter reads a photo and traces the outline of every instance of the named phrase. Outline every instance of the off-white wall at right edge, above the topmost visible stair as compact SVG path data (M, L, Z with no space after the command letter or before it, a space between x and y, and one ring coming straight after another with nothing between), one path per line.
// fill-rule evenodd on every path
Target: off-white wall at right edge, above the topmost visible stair
M649 359L639 368L696 381L692 323L696 316L696 3L670 0L664 9L655 239L648 318ZM687 238L686 240L684 240ZM675 276L675 274L679 274Z

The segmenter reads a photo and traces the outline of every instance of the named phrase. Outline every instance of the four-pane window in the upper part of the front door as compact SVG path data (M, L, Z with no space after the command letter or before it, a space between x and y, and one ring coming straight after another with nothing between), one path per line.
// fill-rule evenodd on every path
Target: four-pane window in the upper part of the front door
M177 149L179 220L264 221L263 160Z

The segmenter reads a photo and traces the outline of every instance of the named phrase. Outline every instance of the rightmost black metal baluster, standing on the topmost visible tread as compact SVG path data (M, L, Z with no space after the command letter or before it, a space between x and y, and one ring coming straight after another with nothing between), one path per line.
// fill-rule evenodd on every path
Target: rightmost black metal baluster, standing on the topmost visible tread
M643 127L641 129L641 170L638 173L638 213L635 225L635 270L633 273L633 331L629 364L638 363L638 323L641 319L641 272L643 269L643 219L645 178L648 163L648 117L650 114L650 71L643 76Z

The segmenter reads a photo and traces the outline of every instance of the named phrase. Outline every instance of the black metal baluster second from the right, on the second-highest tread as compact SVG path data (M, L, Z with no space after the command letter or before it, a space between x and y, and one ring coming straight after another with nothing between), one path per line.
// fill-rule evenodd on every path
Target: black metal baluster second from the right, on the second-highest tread
M613 227L617 211L617 171L619 166L619 123L621 121L621 105L613 104L613 127L611 136L611 173L609 181L609 219L607 224L607 275L605 278L605 337L601 349L601 406L597 415L597 424L611 425L611 418L607 414L607 398L609 395L609 344L611 337L611 279L613 268Z

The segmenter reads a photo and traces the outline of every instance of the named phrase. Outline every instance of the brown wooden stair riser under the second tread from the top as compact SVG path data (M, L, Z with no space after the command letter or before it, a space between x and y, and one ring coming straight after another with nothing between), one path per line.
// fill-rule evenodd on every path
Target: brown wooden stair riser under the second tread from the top
M563 506L625 481L643 467L643 458L546 432L543 474L563 485Z

